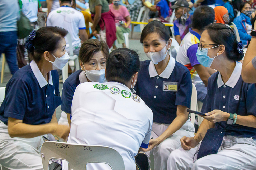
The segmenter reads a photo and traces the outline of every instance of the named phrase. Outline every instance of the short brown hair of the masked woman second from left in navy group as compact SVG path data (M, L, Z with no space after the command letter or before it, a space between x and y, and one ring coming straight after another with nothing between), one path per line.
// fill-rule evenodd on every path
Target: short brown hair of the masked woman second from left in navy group
M108 58L109 48L104 41L98 39L88 39L84 41L79 50L78 59L83 63L87 63L91 60L91 57L99 51L102 51L104 56Z

